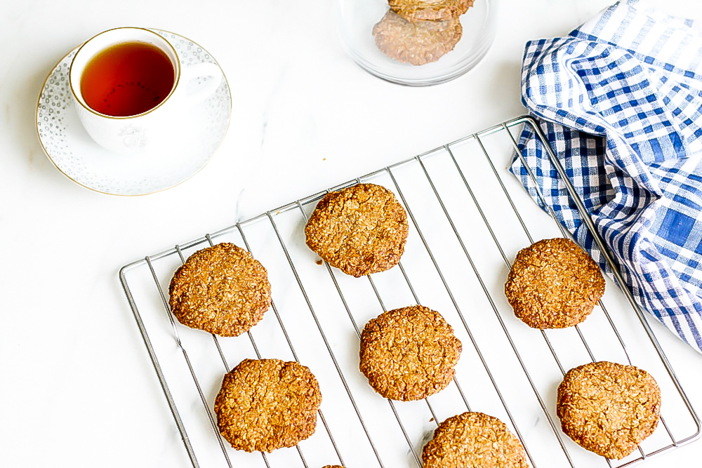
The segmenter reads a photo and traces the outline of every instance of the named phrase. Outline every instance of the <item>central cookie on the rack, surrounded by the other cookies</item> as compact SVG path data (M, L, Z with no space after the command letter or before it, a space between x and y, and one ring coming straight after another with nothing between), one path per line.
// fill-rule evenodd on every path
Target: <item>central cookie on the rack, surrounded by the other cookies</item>
M461 341L438 313L420 305L372 319L361 333L361 372L380 395L420 400L453 380Z

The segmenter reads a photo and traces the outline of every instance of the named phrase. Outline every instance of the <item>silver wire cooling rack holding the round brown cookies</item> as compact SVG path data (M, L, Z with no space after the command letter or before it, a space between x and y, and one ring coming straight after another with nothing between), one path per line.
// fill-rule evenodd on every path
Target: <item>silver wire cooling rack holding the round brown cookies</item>
M193 467L420 467L422 447L437 424L466 410L508 424L535 468L629 467L698 439L700 421L628 291L607 279L595 311L564 330L534 330L512 313L503 285L517 251L567 235L503 169L524 125L544 140L534 121L514 119L121 269ZM411 222L402 262L355 279L307 249L303 229L324 194L361 182L395 192ZM573 187L569 190L574 196ZM579 199L574 201L584 210ZM273 297L258 325L230 338L181 326L167 298L171 276L187 256L225 241L246 248L265 265ZM412 304L441 312L463 342L463 355L456 379L443 392L424 401L390 401L373 392L359 372L359 331L381 312ZM317 432L270 454L232 450L213 413L222 377L242 359L273 357L299 361L317 375L324 397ZM576 446L555 415L563 374L605 360L645 368L663 394L661 424L624 460Z

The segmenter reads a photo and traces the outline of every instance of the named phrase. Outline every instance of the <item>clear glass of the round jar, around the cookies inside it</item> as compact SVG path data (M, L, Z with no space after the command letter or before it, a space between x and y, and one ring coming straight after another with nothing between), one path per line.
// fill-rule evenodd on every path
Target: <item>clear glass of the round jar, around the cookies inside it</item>
M431 86L461 76L485 56L494 39L494 10L497 1L475 0L468 11L458 17L463 33L453 50L437 61L423 65L411 65L390 58L376 46L373 27L388 13L390 7L387 0L336 0L337 29L347 55L367 72L392 83ZM423 22L407 24L418 23ZM403 27L402 24L399 26ZM407 44L407 41L412 41L412 34L414 33L398 40ZM408 44L408 47L414 45Z

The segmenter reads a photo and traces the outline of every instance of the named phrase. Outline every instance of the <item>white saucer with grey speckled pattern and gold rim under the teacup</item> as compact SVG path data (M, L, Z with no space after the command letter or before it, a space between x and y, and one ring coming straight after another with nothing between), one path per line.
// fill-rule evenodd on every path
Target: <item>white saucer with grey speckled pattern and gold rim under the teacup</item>
M198 44L172 32L164 36L183 66L216 60ZM78 119L68 84L68 72L79 47L53 68L37 102L37 134L46 156L67 178L95 192L145 195L180 184L203 168L229 128L232 95L223 74L222 84L178 122L177 137L143 154L117 154L101 147ZM201 79L201 81L205 81Z

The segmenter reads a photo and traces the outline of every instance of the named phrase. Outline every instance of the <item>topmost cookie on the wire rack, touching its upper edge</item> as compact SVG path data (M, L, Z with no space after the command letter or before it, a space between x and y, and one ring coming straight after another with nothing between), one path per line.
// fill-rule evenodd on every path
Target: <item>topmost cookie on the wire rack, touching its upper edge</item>
M307 246L357 278L397 265L407 232L407 214L395 195L373 184L326 194L305 226Z

